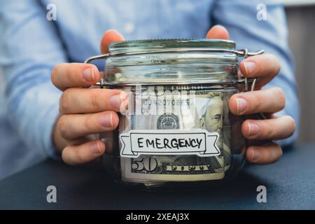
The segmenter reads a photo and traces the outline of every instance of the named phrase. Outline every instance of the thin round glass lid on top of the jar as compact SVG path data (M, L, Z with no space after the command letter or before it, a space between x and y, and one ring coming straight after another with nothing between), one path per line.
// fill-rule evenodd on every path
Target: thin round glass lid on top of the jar
M109 45L109 52L113 54L124 54L129 52L144 52L169 48L208 48L233 51L235 50L235 42L230 40L207 38L162 38L126 40L111 43L111 45Z

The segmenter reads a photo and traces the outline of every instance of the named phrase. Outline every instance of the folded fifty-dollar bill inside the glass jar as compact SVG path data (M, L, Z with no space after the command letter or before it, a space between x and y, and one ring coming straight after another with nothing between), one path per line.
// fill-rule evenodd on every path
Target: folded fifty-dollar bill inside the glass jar
M123 181L223 179L231 157L228 99L225 92L176 86L141 89L130 102L132 113L120 118Z

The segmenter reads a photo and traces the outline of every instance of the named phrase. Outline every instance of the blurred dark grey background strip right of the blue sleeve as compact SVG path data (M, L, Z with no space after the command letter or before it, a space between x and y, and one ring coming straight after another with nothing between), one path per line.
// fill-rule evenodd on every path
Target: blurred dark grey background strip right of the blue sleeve
M286 7L290 48L300 99L299 142L315 143L315 0L281 0ZM1 73L1 68L0 68ZM0 91L3 90L0 76ZM287 99L288 101L290 99ZM0 105L3 102L0 102ZM1 116L1 115L0 115Z

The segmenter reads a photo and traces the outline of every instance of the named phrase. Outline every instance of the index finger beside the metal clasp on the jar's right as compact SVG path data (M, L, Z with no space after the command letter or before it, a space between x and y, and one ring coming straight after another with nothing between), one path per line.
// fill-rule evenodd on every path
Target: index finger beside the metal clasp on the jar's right
M240 64L241 73L247 78L259 77L256 89L269 83L280 71L280 62L271 54L255 55L244 59Z

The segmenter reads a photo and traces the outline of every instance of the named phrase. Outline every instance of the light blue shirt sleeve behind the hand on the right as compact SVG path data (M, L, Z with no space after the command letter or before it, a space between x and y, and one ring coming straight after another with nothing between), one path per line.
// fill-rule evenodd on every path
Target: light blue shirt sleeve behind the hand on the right
M263 14L265 13L265 14ZM281 87L286 94L286 106L278 114L292 116L299 127L293 59L288 48L288 30L283 6L278 1L218 0L211 12L213 25L225 26L237 49L265 50L278 57L281 70L265 87ZM297 139L297 130L288 139L278 141L282 146Z

